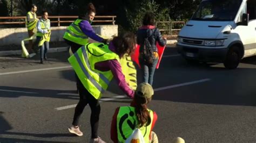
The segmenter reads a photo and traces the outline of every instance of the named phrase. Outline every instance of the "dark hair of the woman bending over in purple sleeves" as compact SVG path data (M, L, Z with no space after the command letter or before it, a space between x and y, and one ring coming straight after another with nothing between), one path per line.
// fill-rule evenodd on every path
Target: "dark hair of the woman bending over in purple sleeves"
M131 55L134 51L134 47L136 46L135 35L131 32L127 32L122 36L114 37L112 42L114 47L116 47L117 54L121 57L125 53Z

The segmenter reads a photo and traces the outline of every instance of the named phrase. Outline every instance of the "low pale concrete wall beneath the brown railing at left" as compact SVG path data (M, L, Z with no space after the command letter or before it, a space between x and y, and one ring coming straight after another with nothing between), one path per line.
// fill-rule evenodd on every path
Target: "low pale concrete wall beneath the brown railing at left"
M118 25L95 25L92 26L95 33L105 38L111 38L118 34ZM51 27L51 41L63 41L66 26ZM0 28L0 46L20 45L21 41L28 38L26 28Z

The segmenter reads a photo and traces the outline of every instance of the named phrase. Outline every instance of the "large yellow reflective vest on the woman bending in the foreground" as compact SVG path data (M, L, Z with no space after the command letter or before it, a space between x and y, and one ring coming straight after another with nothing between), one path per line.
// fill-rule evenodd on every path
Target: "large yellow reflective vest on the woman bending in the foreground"
M96 99L99 99L107 89L113 75L110 70L96 70L95 63L112 59L119 61L119 56L110 51L107 45L90 43L79 48L68 60L84 87Z

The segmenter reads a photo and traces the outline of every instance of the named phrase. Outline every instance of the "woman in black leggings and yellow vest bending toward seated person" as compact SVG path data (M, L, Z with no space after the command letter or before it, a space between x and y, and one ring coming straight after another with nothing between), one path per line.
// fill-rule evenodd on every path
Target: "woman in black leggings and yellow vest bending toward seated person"
M136 45L135 35L125 33L114 37L109 46L103 43L90 43L82 46L69 58L71 66L78 76L79 102L75 109L72 126L69 132L82 136L79 129L79 118L87 104L91 108L91 140L90 142L104 142L98 137L100 104L99 99L114 77L125 94L133 98L134 91L129 87L123 72L120 58L130 55Z

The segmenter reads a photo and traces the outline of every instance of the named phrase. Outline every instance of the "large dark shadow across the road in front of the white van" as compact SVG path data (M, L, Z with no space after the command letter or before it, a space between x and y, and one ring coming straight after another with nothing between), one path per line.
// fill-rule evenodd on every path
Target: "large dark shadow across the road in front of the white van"
M222 70L218 67L200 67L203 70L187 68L186 73L177 74L175 78L178 83L186 83L195 80L210 78L210 81L185 85L177 88L167 90L160 90L155 92L154 100L185 102L185 103L201 103L201 104L221 104L221 105L242 105L242 106L256 106L256 69L254 68L237 68L234 70ZM214 71L213 71L213 70ZM219 70L220 69L220 70ZM219 70L219 71L215 71ZM218 73L216 73L218 72ZM182 75L184 77L182 77ZM156 75L160 78L160 75ZM169 78L172 80L172 77ZM185 82L184 82L185 81ZM161 82L156 80L156 82ZM165 87L165 85L157 86Z

